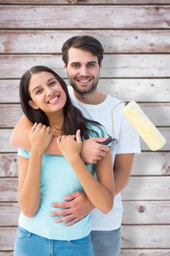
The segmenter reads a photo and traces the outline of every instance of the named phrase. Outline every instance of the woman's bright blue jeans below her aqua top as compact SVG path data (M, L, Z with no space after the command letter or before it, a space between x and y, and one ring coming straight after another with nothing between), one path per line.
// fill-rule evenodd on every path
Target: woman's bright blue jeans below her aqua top
M72 241L52 240L19 226L14 256L93 256L91 236Z

